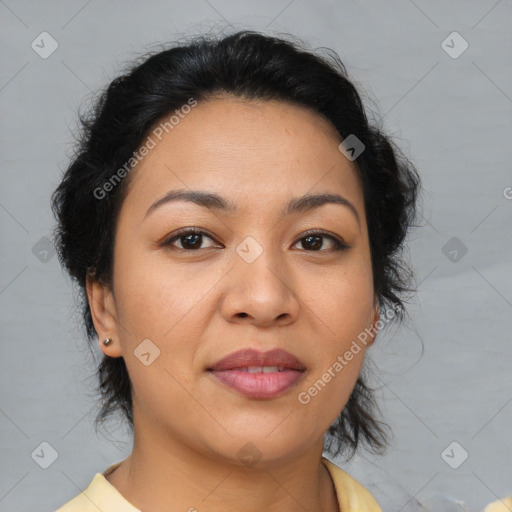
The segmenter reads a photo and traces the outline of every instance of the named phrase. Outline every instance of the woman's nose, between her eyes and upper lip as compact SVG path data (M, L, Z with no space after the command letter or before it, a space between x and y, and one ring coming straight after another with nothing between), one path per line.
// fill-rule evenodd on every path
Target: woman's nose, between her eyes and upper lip
M251 263L238 254L234 259L222 304L225 320L258 327L295 322L300 310L297 282L284 258L264 250Z

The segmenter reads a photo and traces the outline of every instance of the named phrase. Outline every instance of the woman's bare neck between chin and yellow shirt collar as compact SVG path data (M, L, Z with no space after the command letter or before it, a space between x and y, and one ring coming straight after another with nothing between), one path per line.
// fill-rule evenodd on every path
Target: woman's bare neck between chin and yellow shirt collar
M141 432L147 432L146 435ZM106 476L140 510L339 512L334 484L321 462L323 438L285 460L252 467L208 456L166 432L137 430L132 454Z

